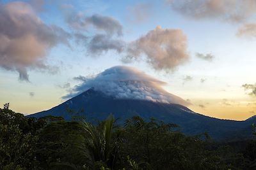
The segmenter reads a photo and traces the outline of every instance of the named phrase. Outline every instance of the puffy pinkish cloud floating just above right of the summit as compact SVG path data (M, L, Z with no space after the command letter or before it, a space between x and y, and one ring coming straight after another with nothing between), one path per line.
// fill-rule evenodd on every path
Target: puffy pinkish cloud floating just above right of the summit
M163 29L157 26L130 43L123 60L136 60L143 55L154 69L175 69L189 59L186 35L180 29Z

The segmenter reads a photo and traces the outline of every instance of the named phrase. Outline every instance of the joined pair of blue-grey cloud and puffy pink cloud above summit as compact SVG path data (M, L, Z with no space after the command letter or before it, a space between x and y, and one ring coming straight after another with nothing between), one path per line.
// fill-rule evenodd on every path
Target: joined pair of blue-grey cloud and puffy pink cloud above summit
M82 34L89 29L101 31L91 33L86 46L87 52L92 56L113 50L125 56L122 57L124 62L146 57L147 62L158 70L175 69L189 58L187 38L180 29L163 29L158 26L145 36L127 43L120 39L123 34L122 25L114 18L102 15L85 16L72 11L72 6L64 6L63 9L67 24L72 29Z

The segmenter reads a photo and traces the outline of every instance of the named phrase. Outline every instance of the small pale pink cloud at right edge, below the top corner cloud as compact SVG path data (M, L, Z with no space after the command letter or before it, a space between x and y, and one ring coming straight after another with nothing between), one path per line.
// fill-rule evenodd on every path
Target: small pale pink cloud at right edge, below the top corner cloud
M236 35L244 38L256 38L256 24L244 24L238 29Z

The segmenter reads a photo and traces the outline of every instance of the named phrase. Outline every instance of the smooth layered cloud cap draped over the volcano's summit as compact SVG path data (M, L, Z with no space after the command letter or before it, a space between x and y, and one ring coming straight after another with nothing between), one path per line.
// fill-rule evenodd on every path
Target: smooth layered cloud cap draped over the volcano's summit
M63 97L64 99L77 96L93 88L116 99L138 99L185 106L189 104L180 97L166 92L161 87L166 84L165 82L152 78L134 67L115 66L93 78L79 76L76 80L81 80L82 83L76 85L70 94Z

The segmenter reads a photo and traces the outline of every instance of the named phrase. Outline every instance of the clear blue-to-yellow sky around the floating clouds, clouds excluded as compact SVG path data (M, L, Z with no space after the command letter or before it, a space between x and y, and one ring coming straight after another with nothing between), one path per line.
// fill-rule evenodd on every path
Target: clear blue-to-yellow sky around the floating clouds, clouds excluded
M209 1L214 4L213 7L204 6ZM209 1L196 1L195 4L198 4L196 8L189 6L191 4L186 0L179 1L181 4L178 1L175 4L174 0L173 2L65 0L54 1L54 3L47 0L23 1L33 10L33 15L38 17L47 27L57 25L71 36L80 32L89 37L88 41L96 34L105 34L104 28L95 29L97 26L89 25L83 30L75 29L66 20L67 12L72 13L72 22L77 22L76 16L83 19L92 15L100 15L115 20L115 23L122 25L122 36L114 34L112 37L107 32L107 37L119 39L125 43L125 46L129 46L136 40L140 41L141 37L146 37L148 32L155 30L157 26L161 26L161 31L167 29L172 32L179 29L187 38L185 50L188 53L188 60L175 66L170 64L170 67L156 69L154 63L147 62L150 58L143 53L145 49L140 53L140 56L137 56L138 60L124 63L122 57L127 55L125 50L116 52L115 49L109 48L106 51L92 54L88 52L88 43L77 44L77 39L70 38L68 39L69 46L65 43L56 43L47 48L44 55L40 55L45 65L57 68L57 71L53 71L54 73L42 69L42 67L26 65L29 79L24 81L19 79L19 73L15 69L16 63L15 65L8 62L11 64L8 65L10 66L8 69L0 63L0 102L2 104L10 102L11 108L20 113L28 114L47 110L62 103L61 97L68 94L68 90L79 83L74 80L74 77L79 75L92 76L112 66L126 65L137 67L141 71L159 78L159 80L166 81L168 85L164 86L164 89L191 101L192 104L189 108L193 111L218 118L234 120L249 118L256 114L256 96L248 95L250 90L253 90L253 86L244 91L242 85L255 84L256 35L253 34L253 31L256 31L256 26L245 29L241 36L237 36L237 31L248 24L253 26L255 13L246 14L243 20L230 21L229 18L225 17L232 16L234 11L226 8L225 4L218 4L217 0ZM232 2L232 4L234 2L226 1ZM0 10L3 10L7 4L12 4L15 1L0 2L2 6ZM40 7L38 10L38 6L36 7L35 4L40 4L40 2L43 3L38 5ZM200 2L203 3L200 4ZM204 4L204 2L206 3ZM173 7L182 5L182 3L192 13L189 15L186 12L182 13L185 9L184 6L179 8L183 11ZM240 3L244 6L241 6ZM241 6L246 10L248 8L247 3L253 4L250 0L246 0L236 1L234 5ZM216 4L220 6L215 8ZM19 5L17 8L24 7ZM68 6L68 8L63 10L63 6ZM202 10L204 13L199 11L199 15L202 16L198 17L198 11L195 9L200 8L204 8ZM12 12L10 11L11 14ZM195 13L196 17L193 16ZM0 29L0 36L1 34L4 35L4 29ZM51 41L55 42L55 40ZM3 46L3 44L0 43L0 49L1 45ZM210 54L213 58L212 60L200 59L196 57L196 53ZM0 53L0 55L2 54ZM3 55L0 57L4 59ZM33 55L33 57L38 56ZM176 57L179 58L179 56ZM191 78L186 79L188 76ZM202 79L205 81L201 82ZM67 83L70 83L70 87L68 87L70 89L63 88ZM29 95L31 92L34 95Z

